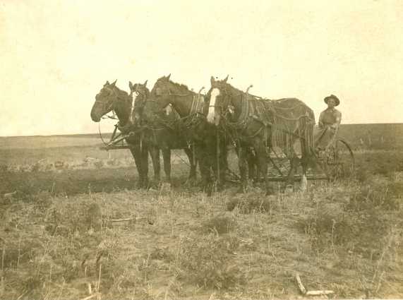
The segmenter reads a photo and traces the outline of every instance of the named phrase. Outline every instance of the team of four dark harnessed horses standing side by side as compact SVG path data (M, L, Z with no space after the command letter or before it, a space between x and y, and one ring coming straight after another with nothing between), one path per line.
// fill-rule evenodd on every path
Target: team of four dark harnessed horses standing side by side
M312 109L296 98L267 100L251 95L249 88L243 92L227 80L228 76L224 80L211 77L205 95L174 83L170 75L159 78L152 90L147 88L147 81L129 82L130 93L120 90L116 80L107 81L95 96L91 119L99 122L114 111L119 131L131 133L126 142L141 187L149 186L149 154L154 181L159 183L160 152L166 180L170 181L171 150L183 149L191 166L188 181L196 181L198 164L202 188L211 193L213 186L221 188L226 181L229 145L234 145L239 158L242 191L246 190L248 177L258 180L263 176L266 193L272 193L267 164L275 148L289 159L289 184L299 164L305 175L308 165L314 165Z

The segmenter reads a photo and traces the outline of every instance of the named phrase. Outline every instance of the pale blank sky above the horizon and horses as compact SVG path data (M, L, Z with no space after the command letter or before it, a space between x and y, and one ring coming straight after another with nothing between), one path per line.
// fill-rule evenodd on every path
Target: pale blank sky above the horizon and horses
M402 20L401 0L0 0L0 136L95 133L106 80L169 73L195 90L229 74L316 119L335 94L343 123L403 123Z

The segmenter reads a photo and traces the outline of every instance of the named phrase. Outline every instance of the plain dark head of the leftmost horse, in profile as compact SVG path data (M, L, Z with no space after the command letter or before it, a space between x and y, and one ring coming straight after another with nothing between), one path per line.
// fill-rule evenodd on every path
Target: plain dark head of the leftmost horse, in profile
M101 117L114 109L118 100L118 91L116 90L116 80L114 83L107 81L100 92L95 96L95 103L91 109L92 121L99 122Z

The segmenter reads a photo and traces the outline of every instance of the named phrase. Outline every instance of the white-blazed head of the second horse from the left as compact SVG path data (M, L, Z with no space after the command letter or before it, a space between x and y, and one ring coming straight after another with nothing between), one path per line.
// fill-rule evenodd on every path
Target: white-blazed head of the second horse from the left
M145 83L136 83L133 85L131 81L128 83L130 88L130 96L132 97L130 121L133 124L140 124L143 118L143 110L145 103L150 97L150 90L147 88L147 81Z

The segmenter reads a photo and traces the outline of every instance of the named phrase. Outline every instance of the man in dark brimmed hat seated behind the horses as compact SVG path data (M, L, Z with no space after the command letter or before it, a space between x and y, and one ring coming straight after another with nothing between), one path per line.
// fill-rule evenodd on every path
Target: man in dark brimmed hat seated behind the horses
M335 107L340 104L339 98L335 95L325 97L327 109L320 113L318 131L315 133L315 149L320 152L326 150L336 136L342 121L342 113Z

